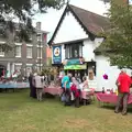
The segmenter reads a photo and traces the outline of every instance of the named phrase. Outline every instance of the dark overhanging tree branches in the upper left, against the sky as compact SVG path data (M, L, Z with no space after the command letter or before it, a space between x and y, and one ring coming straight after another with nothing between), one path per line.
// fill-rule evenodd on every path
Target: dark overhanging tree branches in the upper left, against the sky
M29 40L29 33L34 32L32 16L36 13L45 13L47 8L61 9L65 0L0 0L0 33L6 37L6 30L15 30L14 19L19 20L20 36ZM8 37L8 36L7 36ZM8 51L10 45L0 45Z

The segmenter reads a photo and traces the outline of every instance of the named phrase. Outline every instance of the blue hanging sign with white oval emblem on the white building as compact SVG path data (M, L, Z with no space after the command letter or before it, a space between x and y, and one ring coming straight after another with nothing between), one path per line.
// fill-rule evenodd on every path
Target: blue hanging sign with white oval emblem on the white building
M62 46L53 46L53 64L62 64Z

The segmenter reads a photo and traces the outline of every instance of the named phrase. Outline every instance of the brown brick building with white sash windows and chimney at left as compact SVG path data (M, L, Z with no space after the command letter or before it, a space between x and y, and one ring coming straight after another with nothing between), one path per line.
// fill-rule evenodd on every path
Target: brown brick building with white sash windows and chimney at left
M1 26L2 29L2 26ZM41 22L36 23L35 33L31 34L30 42L18 37L19 29L13 33L8 30L8 38L0 34L0 44L7 41L13 47L8 53L0 50L0 76L29 76L32 72L40 72L46 65L47 32L41 30Z

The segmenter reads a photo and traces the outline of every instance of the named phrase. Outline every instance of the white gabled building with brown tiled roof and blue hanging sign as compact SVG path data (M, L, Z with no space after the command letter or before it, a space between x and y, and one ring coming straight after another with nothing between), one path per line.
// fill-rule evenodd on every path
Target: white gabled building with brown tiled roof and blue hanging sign
M95 70L97 91L116 89L116 79L120 73L117 66L110 66L109 58L96 54L95 50L102 43L99 33L109 29L109 20L84 9L67 6L58 25L48 42L53 48L52 63L65 70L80 76ZM79 62L82 61L82 64ZM66 63L65 65L63 65ZM108 75L108 80L103 75Z

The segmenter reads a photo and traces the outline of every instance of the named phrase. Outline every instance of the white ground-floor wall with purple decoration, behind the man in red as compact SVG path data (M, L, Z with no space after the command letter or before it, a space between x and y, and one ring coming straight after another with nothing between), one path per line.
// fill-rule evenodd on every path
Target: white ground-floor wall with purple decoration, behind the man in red
M97 91L102 90L102 87L106 89L116 89L116 80L120 70L117 66L110 66L110 62L107 57L99 55L96 56L97 62ZM108 80L103 79L103 75L108 75Z

